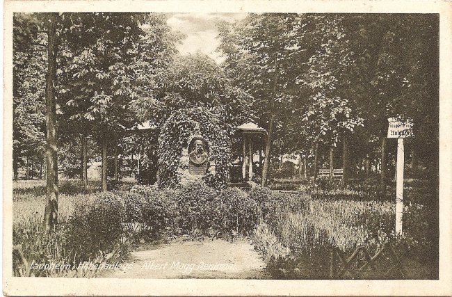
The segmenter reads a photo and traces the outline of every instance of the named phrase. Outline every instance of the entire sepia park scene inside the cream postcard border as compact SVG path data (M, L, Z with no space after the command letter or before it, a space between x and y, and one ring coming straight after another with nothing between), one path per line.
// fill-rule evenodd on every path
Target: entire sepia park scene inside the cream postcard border
M14 276L438 279L438 15L15 13L10 100Z

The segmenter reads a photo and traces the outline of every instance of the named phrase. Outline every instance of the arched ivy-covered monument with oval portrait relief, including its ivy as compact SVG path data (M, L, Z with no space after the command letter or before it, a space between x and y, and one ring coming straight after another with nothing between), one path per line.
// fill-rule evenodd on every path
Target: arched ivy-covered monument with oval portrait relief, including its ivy
M224 126L202 107L173 113L159 135L159 186L177 188L192 181L213 188L227 186L231 139Z

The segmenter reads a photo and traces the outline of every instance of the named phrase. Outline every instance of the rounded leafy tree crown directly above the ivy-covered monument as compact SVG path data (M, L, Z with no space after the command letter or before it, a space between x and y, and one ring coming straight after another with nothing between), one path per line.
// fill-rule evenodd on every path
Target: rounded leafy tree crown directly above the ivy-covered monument
M179 109L202 107L230 130L250 118L250 95L232 84L219 65L200 53L176 56L152 77L154 89L132 102L138 118L161 127Z

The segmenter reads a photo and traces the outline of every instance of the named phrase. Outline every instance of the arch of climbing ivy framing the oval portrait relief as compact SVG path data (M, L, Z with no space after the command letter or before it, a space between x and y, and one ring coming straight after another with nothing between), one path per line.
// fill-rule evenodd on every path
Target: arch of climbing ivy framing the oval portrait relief
M211 165L202 180L212 188L224 188L229 181L231 140L224 125L208 109L197 107L175 111L163 125L159 135L159 173L161 188L177 188L181 181L178 170L181 152L193 136L207 141Z

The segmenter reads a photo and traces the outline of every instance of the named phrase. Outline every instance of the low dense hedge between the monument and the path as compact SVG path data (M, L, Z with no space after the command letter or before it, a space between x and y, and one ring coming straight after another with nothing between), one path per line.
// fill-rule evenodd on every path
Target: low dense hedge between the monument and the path
M249 234L257 223L258 203L237 188L214 191L203 183L192 182L177 190L136 186L132 191L140 198L130 194L123 198L126 205L134 205L130 208L141 218L129 218L143 224L142 230L152 226L154 234ZM127 202L131 197L134 202ZM138 201L141 205L136 205Z

